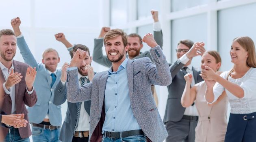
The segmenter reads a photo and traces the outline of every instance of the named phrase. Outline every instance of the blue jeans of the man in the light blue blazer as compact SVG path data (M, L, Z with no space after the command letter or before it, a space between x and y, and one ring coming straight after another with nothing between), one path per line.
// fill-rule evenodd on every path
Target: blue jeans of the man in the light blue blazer
M60 142L60 129L45 129L32 126L33 142Z

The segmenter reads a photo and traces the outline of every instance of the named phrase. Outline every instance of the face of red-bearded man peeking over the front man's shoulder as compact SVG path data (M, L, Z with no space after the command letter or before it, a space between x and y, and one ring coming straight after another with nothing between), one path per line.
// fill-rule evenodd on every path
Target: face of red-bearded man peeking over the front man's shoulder
M128 55L131 58L134 58L140 54L140 50L143 47L143 44L139 40L139 37L128 37Z

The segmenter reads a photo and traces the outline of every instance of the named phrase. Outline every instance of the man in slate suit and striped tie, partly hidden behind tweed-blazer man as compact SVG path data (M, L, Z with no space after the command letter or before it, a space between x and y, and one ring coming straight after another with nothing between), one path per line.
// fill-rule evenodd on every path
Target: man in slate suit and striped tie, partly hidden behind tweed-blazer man
M81 49L86 52L87 55L78 64L78 78L79 85L82 86L92 81L94 73L91 67L92 57L90 56L89 48L85 45L77 44L74 46L70 53L73 58L77 49ZM57 84L54 91L53 103L55 105L63 104L67 99L66 91L66 69L69 67L68 63L65 63L61 71L61 80ZM71 103L67 102L67 112L64 123L61 127L61 134L59 140L62 142L88 142L89 140L89 122L90 122L90 108L91 100Z

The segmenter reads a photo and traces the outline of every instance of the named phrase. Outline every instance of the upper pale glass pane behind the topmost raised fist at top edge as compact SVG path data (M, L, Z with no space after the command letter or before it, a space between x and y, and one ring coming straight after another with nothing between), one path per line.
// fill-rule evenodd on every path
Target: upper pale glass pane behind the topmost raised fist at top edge
M150 11L152 9L160 11L160 1L158 0L137 0L137 19L143 19L145 17L151 17Z

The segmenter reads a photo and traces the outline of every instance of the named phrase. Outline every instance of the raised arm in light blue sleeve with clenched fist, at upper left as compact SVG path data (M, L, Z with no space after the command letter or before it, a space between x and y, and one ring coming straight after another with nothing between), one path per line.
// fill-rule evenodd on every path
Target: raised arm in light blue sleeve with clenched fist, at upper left
M22 54L22 58L28 65L30 65L31 67L36 67L36 69L38 70L39 65L37 64L37 61L35 60L33 54L28 48L28 45L20 31L20 24L21 21L19 17L11 20L11 26L13 27L13 31L17 37L17 45L20 49L20 54Z

